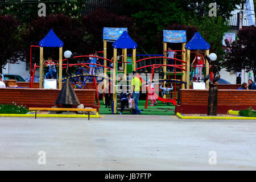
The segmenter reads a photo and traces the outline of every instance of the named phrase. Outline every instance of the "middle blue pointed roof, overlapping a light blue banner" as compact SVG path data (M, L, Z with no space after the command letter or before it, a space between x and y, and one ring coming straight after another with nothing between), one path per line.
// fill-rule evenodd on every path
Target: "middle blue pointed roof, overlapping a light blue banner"
M137 44L130 38L127 31L123 31L122 35L113 43L114 48L135 49Z

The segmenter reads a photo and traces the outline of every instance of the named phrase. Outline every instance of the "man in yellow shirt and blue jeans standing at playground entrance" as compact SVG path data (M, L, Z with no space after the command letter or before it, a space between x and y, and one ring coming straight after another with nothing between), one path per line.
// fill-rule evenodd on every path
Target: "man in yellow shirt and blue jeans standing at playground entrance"
M134 99L135 110L137 114L142 113L142 111L138 108L140 90L141 90L141 80L139 80L139 78L137 77L137 72L133 71L133 81L131 81L131 96Z

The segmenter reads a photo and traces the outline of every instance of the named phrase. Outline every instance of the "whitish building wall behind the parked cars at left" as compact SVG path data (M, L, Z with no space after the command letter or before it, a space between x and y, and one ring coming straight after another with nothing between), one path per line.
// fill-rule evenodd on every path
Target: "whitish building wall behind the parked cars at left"
M3 74L16 74L22 76L24 79L29 77L28 75L30 74L29 69L26 70L26 63L23 61L18 61L18 63L15 64L7 63L5 68L6 69L3 69ZM39 75L39 70L35 72L35 75Z

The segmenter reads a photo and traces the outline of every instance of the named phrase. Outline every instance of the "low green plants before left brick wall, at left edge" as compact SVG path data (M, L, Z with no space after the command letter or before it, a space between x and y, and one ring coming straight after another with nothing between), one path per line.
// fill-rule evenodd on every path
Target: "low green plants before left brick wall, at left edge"
M26 107L14 104L0 104L0 114L27 114Z

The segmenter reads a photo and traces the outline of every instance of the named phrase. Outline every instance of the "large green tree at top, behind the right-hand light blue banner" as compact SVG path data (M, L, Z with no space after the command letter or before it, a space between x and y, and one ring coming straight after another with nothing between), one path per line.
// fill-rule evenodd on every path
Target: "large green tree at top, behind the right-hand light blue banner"
M192 26L200 26L200 32L202 31L203 36L206 35L207 38L210 32L207 30L206 23L210 23L210 27L218 27L221 31L216 36L222 35L222 27L225 28L225 26L220 27L220 24L223 24L226 18L229 18L231 11L236 9L236 5L240 4L241 0L216 0L215 2L217 17L209 17L208 15L209 4L212 3L212 0L127 0L125 1L124 13L135 17L137 27L141 29L138 34L145 39L142 45L144 49L155 53L156 48L152 46L156 45L155 35L162 32L164 27L173 23L190 23ZM207 19L207 16L211 19ZM221 20L222 22L220 22ZM191 23L192 21L193 23ZM217 23L217 25L214 25L214 23ZM213 47L217 49L218 46L215 45L217 42L213 41L214 39L217 38L211 36L209 43L214 43ZM218 51L221 52L219 47Z

